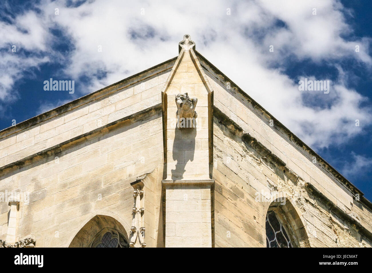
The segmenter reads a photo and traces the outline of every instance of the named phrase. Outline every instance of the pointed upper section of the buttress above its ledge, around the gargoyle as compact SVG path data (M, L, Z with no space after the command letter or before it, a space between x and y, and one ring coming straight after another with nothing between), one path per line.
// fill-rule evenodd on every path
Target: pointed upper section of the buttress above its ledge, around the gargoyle
M164 159L167 162L168 179L209 178L209 162L212 158L211 143L211 100L212 88L205 77L193 48L195 43L185 35L179 43L180 53L164 85L163 105L164 137L166 147ZM196 128L177 128L177 105L175 97L187 94L197 99Z

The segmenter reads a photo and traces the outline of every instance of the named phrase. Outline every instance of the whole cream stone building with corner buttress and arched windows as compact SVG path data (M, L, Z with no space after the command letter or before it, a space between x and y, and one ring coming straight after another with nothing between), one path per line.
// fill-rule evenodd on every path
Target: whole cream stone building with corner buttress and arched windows
M0 131L0 247L369 247L372 204L195 51Z

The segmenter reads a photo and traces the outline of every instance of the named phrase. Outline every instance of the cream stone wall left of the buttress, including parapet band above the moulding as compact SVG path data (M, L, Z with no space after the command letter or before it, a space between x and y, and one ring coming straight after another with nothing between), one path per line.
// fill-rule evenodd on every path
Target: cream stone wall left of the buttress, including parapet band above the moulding
M151 76L129 88L116 84L110 87L117 90L109 97L0 140L0 191L30 193L30 204L21 202L17 212L17 240L32 237L37 247L68 246L77 231L97 214L112 216L129 235L134 205L130 183L149 173L144 178L148 209L144 214L145 240L150 247L163 245L159 224L163 177L159 104L168 74ZM115 124L149 107L154 109L148 114L135 114ZM24 145L26 142L30 145ZM43 150L47 152L35 155ZM17 160L17 164L4 167ZM2 202L2 240L6 238L8 212L8 203ZM157 238L159 229L161 237Z

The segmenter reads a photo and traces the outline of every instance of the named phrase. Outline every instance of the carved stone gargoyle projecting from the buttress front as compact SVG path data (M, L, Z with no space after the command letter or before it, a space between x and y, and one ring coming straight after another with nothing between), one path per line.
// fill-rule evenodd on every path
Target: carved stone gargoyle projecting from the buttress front
M190 99L187 93L176 95L177 105L177 127L179 128L193 128L196 125L195 118L198 114L195 111L197 98Z

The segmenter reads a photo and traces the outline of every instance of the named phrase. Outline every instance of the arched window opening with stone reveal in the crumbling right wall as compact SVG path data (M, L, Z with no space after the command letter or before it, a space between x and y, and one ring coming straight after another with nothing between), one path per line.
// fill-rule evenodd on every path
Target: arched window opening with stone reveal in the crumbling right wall
M294 233L285 214L279 207L266 214L266 247L297 247Z

